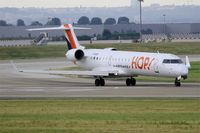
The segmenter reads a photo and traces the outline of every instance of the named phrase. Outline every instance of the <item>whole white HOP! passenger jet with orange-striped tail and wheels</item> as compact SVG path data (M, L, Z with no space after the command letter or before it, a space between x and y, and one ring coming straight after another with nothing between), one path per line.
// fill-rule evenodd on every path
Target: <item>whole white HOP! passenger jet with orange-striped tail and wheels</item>
M96 78L95 86L104 86L103 78L111 76L128 77L127 86L135 86L136 80L133 77L139 75L175 77L175 86L181 85L181 78L187 78L188 68L190 68L187 56L184 64L173 54L116 51L113 48L85 49L79 44L74 29L88 28L64 24L59 27L29 29L29 31L64 30L68 47L67 60L87 69L87 71L50 71L49 74L93 76Z

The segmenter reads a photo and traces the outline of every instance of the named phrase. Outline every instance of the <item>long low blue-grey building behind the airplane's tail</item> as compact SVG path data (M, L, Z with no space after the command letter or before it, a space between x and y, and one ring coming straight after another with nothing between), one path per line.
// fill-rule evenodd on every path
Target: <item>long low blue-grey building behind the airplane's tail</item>
M139 24L115 24L115 25L76 25L90 27L91 30L80 30L77 36L102 35L104 29L114 32L139 32ZM32 26L0 26L0 39L3 38L34 38L39 36L41 31L30 32L26 29L39 28ZM170 23L170 24L143 24L143 30L151 29L153 34L198 34L200 33L200 23ZM62 31L48 31L50 37L63 35Z

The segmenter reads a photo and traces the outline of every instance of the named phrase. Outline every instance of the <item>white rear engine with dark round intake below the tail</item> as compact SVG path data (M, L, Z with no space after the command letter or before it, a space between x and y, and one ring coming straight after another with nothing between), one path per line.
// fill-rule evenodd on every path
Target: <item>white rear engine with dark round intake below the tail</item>
M70 61L77 61L77 60L81 60L84 57L84 52L81 49L71 49L69 51L67 51L66 53L66 57L67 60Z

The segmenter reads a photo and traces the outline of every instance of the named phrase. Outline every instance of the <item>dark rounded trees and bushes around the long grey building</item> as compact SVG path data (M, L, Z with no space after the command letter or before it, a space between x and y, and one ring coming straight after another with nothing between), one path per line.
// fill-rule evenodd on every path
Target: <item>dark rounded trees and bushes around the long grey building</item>
M75 24L75 23L74 23ZM119 17L118 20L115 18L107 18L104 22L99 17L93 17L91 20L87 16L82 16L78 19L78 25L115 25L115 24L130 24L129 18L123 16ZM59 18L49 18L48 22L44 24L44 26L51 25L61 25L61 21ZM12 24L7 24L6 21L0 20L0 26L13 26ZM16 22L16 26L26 26L25 22L22 19L18 19ZM33 21L29 26L43 26L39 21ZM143 34L152 34L151 29L142 30ZM121 32L111 32L109 29L104 29L101 35L93 35L93 36L78 36L79 40L90 40L93 37L97 37L98 40L120 40L120 39L133 39L137 40L140 37L140 34L136 31L121 31ZM64 37L55 37L53 40L64 40Z

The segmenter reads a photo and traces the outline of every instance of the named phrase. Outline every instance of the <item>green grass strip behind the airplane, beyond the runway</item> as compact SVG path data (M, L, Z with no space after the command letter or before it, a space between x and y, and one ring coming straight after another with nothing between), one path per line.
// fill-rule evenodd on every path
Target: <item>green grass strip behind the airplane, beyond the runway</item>
M200 54L199 43L90 44L86 48L115 47L124 51L161 52L177 55ZM66 45L0 47L0 60L64 57Z

